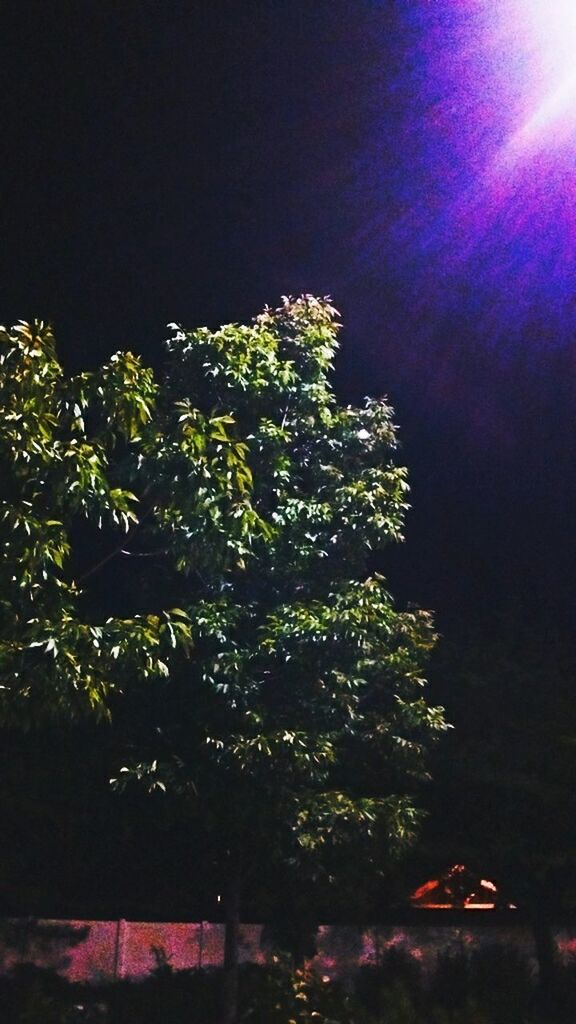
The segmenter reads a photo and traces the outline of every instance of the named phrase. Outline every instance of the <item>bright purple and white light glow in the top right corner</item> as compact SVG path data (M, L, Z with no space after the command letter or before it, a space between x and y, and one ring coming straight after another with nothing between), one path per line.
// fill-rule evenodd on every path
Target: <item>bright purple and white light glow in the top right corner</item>
M576 0L406 0L371 54L357 251L430 333L576 328ZM387 29L388 27L386 27ZM377 268L377 269L376 269ZM425 327L427 325L427 327Z

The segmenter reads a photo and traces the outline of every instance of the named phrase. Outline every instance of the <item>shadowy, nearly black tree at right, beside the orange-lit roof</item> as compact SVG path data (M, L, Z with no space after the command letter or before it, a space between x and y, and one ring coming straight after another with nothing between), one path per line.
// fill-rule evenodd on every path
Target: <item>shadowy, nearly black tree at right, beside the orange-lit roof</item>
M438 655L456 728L435 758L422 852L499 883L531 924L540 988L553 1001L551 928L576 905L574 649L512 620L442 642Z

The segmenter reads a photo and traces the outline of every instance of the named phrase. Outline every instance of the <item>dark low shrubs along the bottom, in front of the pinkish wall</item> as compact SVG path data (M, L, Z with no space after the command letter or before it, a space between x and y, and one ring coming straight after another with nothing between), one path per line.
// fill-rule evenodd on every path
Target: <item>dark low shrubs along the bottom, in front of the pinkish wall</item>
M500 948L504 959L513 951ZM458 998L440 978L408 980L401 969L362 972L354 991L314 971L292 971L283 958L265 968L246 966L241 974L240 1019L245 1024L571 1024L573 1012L553 1017L534 1010L534 987L526 974L516 1006L506 981L481 979L472 955L468 983ZM398 965L397 965L398 966ZM568 969L567 973L568 972ZM520 975L519 975L520 982ZM142 982L95 987L67 983L53 973L26 965L0 978L5 1024L214 1024L220 975L217 971L163 968Z

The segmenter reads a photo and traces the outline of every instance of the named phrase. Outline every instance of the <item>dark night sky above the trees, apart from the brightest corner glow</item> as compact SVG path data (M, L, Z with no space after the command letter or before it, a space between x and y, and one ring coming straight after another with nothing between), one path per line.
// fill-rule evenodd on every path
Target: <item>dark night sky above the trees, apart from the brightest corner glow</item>
M169 322L215 327L283 293L331 294L339 393L388 395L411 469L395 592L447 633L528 616L570 636L566 181L549 179L537 223L520 219L523 196L543 204L524 166L513 203L484 215L475 160L513 104L464 46L474 5L458 24L429 6L8 0L0 319L51 319L74 368L124 347L159 362Z

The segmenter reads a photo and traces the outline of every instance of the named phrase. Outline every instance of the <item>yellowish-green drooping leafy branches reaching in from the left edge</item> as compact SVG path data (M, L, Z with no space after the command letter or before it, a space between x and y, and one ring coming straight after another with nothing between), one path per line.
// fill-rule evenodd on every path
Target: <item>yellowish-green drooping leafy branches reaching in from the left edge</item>
M47 325L0 329L4 720L106 714L127 674L166 675L186 616L133 614L132 599L101 621L94 573L151 546L181 570L195 539L211 559L240 557L258 529L249 482L230 418L170 397L136 356L69 377Z

